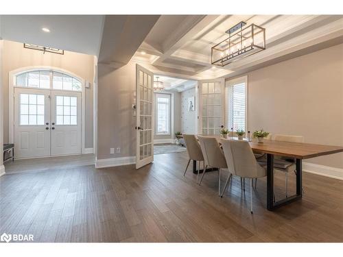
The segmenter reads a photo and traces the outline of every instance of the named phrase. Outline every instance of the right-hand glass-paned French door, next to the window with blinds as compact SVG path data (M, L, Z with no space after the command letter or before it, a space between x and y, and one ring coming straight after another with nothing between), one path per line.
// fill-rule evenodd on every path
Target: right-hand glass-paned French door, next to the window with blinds
M224 79L198 81L199 134L218 135L225 125Z

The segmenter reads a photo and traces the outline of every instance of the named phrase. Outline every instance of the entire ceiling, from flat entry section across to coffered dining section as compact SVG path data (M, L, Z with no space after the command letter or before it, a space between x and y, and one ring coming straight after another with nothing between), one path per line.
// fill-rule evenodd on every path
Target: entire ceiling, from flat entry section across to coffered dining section
M265 27L267 49L224 67L211 65L211 47L239 21ZM113 69L131 58L155 74L210 79L234 77L342 43L343 16L2 15L0 38L99 56L99 62Z

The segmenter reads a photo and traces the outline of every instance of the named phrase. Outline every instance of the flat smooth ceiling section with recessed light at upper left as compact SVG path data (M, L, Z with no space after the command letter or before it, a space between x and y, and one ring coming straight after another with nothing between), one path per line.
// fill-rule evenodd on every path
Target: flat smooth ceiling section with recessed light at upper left
M1 15L0 38L97 56L104 15ZM42 28L50 29L49 33Z

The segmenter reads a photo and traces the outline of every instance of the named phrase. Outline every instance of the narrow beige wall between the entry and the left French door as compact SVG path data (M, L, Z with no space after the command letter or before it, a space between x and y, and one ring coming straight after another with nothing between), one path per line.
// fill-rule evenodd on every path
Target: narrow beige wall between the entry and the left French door
M133 94L136 91L136 64L129 62L117 70L97 66L97 159L135 156L136 117ZM110 154L110 148L121 148Z

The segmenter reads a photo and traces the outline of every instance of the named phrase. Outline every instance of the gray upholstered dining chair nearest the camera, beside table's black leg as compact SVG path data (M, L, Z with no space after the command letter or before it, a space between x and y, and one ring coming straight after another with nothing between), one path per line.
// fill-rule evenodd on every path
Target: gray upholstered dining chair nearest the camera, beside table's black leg
M250 178L250 212L252 213L252 180L265 177L267 171L257 162L247 141L222 139L222 147L230 173L241 178ZM229 180L230 175L226 179L222 195Z

